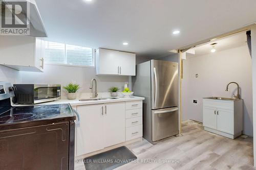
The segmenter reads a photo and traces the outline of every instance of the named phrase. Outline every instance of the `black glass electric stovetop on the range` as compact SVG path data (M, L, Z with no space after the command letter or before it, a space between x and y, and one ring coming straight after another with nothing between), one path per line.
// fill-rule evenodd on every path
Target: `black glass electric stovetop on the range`
M0 130L75 120L69 104L0 107Z

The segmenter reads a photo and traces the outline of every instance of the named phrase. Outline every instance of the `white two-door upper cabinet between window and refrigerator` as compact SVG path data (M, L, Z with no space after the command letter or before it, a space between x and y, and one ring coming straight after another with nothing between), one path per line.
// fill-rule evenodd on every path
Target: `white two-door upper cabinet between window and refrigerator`
M135 76L136 55L99 48L96 51L96 74Z

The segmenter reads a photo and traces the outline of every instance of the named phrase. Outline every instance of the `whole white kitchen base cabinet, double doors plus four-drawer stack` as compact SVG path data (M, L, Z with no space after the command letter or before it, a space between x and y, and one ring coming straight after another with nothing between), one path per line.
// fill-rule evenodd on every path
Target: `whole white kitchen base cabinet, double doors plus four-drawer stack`
M142 137L142 101L84 105L76 110L80 117L76 156Z

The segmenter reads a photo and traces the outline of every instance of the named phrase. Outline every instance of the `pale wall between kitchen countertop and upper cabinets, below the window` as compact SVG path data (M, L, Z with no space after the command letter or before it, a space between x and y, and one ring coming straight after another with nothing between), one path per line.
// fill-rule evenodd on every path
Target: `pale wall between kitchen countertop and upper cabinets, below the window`
M0 65L0 81L31 84L61 84L65 86L75 81L81 85L78 92L92 92L91 80L97 80L98 92L107 92L111 86L123 88L129 82L128 76L96 76L95 68L45 65L44 72L17 71ZM62 92L62 95L66 95Z

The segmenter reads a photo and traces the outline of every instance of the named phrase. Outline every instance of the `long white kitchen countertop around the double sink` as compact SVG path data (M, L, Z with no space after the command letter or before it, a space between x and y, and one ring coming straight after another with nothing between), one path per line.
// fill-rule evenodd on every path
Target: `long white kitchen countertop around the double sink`
M39 103L36 105L56 105L56 104L70 104L71 106L81 106L81 105L94 105L94 104L103 104L103 103L116 103L116 102L129 102L129 101L142 101L145 98L132 96L131 98L118 98L112 100L98 100L98 101L79 101L79 99L68 100L68 99L60 99L53 102ZM29 106L29 105L16 105L12 104L12 106Z

